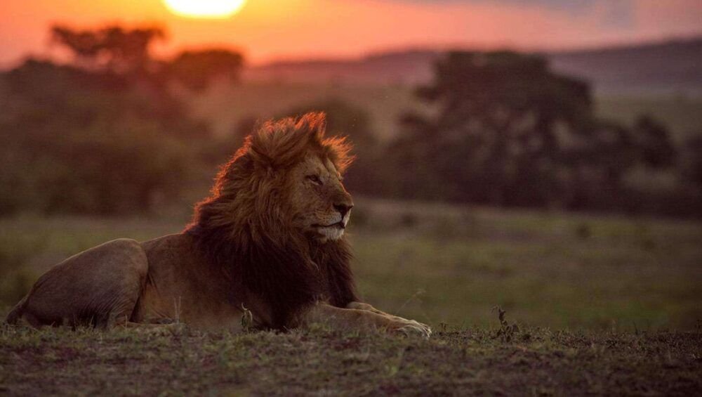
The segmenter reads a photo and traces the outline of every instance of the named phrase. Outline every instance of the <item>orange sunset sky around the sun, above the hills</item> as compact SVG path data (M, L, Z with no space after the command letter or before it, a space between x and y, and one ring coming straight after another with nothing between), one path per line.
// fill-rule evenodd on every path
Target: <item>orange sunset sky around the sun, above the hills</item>
M164 56L225 46L250 63L403 48L592 48L702 34L702 0L248 0L226 19L174 15L161 0L0 0L0 66L55 53L53 23L160 25Z

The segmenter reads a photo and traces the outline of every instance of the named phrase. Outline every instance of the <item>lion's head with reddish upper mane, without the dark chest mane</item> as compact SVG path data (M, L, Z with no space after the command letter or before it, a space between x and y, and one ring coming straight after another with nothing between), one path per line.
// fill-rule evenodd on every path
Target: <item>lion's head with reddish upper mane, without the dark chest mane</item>
M199 211L214 206L209 221L239 223L253 237L284 230L339 240L353 207L342 183L352 157L343 138L324 137L325 124L323 113L308 113L260 126L220 171Z

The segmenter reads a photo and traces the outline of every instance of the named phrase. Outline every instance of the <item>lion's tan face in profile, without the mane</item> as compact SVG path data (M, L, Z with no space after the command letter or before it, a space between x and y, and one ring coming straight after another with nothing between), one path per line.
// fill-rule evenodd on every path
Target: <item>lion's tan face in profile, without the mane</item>
M329 159L310 154L289 171L293 222L321 241L338 240L349 221L353 201Z

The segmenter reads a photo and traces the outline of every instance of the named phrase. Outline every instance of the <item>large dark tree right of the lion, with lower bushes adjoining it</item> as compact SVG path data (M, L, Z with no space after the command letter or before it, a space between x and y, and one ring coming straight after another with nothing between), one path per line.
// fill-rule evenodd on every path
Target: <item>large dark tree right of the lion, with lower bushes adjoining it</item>
M435 112L405 115L383 155L383 187L402 197L635 210L624 176L676 156L650 117L633 128L596 119L588 84L540 56L448 53L417 96Z

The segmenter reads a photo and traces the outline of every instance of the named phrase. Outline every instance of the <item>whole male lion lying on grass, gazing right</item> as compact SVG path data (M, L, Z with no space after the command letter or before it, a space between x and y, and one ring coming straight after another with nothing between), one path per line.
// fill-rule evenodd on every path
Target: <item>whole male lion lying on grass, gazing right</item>
M240 330L250 310L255 327L326 323L428 337L427 325L358 301L344 237L353 202L341 183L352 158L324 129L321 113L265 123L221 169L182 233L114 240L66 259L39 278L8 323L179 320Z

